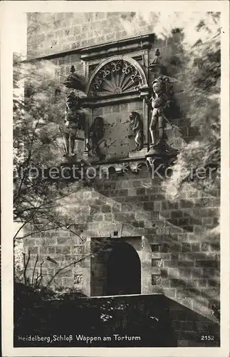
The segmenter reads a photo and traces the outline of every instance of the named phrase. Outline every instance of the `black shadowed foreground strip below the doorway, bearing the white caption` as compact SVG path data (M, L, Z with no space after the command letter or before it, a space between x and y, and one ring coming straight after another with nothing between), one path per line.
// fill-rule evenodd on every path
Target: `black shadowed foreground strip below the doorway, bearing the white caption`
M73 341L65 341L70 335ZM121 341L126 335L131 341ZM51 340L23 341L26 336ZM79 336L97 340L87 343ZM111 340L103 341L105 336ZM162 294L44 301L41 293L16 284L14 346L219 346L219 326Z

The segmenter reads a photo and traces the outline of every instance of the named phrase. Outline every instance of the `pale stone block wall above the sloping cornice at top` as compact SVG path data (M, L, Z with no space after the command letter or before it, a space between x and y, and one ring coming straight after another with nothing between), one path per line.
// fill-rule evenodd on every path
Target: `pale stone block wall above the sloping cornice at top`
M120 19L127 13L30 13L28 14L28 56L41 56L80 49L130 37ZM130 13L132 18L132 13ZM143 21L132 36L148 34L152 26Z

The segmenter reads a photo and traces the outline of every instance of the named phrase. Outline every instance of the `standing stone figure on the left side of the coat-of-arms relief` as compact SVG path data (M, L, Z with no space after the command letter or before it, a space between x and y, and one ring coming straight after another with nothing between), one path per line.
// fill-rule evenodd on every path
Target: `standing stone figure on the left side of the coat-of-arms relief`
M64 134L66 141L66 155L74 156L75 139L79 129L84 129L84 115L80 111L81 101L73 92L66 98L66 116Z

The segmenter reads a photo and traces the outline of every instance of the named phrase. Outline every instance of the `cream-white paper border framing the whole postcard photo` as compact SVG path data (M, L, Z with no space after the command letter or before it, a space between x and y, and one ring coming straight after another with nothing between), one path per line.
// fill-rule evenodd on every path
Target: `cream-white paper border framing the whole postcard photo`
M221 347L14 348L11 16L16 12L221 11ZM1 204L3 356L229 356L229 1L1 1Z

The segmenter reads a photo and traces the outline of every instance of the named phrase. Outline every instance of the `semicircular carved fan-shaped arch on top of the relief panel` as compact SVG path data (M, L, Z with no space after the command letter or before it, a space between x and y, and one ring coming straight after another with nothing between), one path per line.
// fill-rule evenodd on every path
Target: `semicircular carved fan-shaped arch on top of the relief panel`
M137 93L145 84L145 72L135 59L129 56L113 56L101 62L93 71L86 94L91 98L132 94Z

